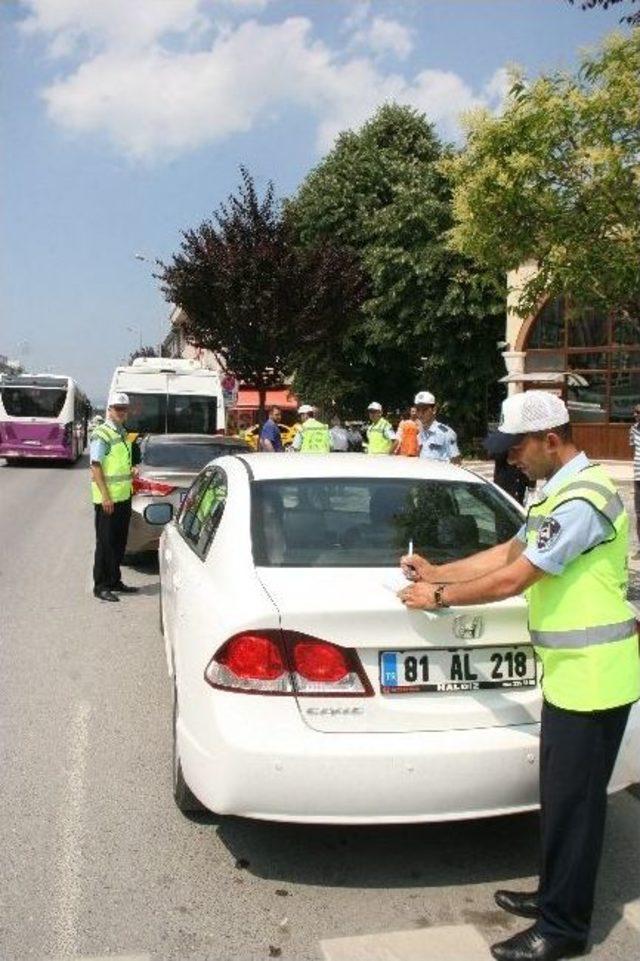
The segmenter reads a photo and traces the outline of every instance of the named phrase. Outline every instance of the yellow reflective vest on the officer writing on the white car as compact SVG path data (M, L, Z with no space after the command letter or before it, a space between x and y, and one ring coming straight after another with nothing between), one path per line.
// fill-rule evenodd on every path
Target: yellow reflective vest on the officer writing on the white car
M545 699L566 710L600 711L640 698L637 625L626 599L629 518L609 477L591 465L530 509L527 544L574 499L605 517L611 536L529 588L529 631Z

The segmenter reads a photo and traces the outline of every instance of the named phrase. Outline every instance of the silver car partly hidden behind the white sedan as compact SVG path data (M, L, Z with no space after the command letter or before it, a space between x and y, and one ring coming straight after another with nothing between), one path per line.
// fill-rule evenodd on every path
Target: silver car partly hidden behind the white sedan
M149 504L172 504L174 514L205 464L223 454L251 452L237 437L224 434L150 434L140 442L134 468L127 553L157 550L160 530L144 519Z

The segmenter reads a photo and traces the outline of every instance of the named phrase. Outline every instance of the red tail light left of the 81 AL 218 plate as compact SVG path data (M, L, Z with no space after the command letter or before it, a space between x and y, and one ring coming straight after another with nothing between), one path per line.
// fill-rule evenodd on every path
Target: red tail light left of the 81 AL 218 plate
M212 687L252 694L372 697L356 652L293 631L247 631L229 638L204 673Z

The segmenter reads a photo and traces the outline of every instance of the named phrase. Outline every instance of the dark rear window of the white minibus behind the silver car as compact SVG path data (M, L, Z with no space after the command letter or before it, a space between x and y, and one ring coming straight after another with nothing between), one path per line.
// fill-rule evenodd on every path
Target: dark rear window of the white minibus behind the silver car
M218 429L215 397L194 394L129 395L127 428L139 434L214 434Z

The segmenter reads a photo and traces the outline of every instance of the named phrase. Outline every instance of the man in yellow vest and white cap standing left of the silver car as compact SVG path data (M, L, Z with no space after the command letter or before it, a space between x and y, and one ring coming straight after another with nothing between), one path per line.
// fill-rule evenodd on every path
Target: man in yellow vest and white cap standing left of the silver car
M138 592L137 587L122 583L120 573L131 519L131 444L124 427L128 409L126 394L112 394L105 422L91 435L91 496L96 527L93 593L101 601L119 601L118 594Z

